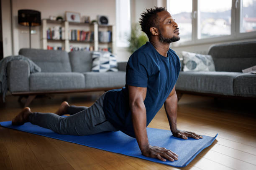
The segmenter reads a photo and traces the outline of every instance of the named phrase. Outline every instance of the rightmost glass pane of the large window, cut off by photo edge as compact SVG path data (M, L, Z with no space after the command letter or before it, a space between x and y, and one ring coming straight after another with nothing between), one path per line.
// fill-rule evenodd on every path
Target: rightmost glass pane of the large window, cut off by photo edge
M243 0L241 32L256 31L256 0Z

